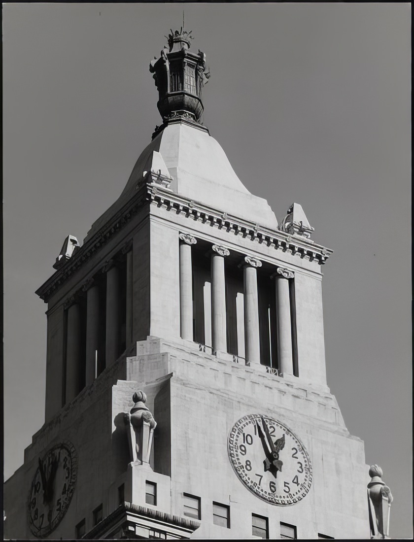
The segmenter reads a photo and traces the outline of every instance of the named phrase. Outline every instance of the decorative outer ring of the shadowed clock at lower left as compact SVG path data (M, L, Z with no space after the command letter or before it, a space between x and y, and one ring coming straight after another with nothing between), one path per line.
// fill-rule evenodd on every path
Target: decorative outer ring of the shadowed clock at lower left
M57 450L62 450L62 448L66 450L70 458L70 474L69 474L69 479L67 482L67 491L66 491L67 497L66 499L64 499L61 510L57 513L56 517L50 523L45 523L44 527L40 527L40 528L36 527L31 515L31 498L33 495L33 490L36 484L36 480L38 480L38 478L40 478L41 476L40 467L37 467L36 472L30 484L30 490L29 490L28 501L27 501L28 524L29 524L30 531L37 538L47 537L51 532L53 532L56 529L56 527L60 524L64 515L68 511L70 502L72 501L73 493L75 491L76 478L77 478L77 454L76 454L76 449L74 445L72 444L72 442L62 441L62 442L54 444L54 446L52 446L46 451L41 461L43 464L49 454L52 454Z

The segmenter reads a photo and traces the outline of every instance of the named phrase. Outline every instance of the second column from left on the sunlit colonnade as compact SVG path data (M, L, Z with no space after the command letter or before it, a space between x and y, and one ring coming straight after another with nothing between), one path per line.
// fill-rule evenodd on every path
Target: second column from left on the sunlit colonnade
M211 255L211 335L213 350L227 352L227 322L225 310L224 257L225 247L214 244Z

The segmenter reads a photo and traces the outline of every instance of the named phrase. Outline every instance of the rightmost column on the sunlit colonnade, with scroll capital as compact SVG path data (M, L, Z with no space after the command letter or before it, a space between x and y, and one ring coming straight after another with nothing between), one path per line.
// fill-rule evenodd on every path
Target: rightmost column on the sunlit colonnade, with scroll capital
M277 321L277 353L279 371L285 375L293 375L292 326L290 319L289 279L294 277L293 271L278 267L273 277L276 279L276 321Z

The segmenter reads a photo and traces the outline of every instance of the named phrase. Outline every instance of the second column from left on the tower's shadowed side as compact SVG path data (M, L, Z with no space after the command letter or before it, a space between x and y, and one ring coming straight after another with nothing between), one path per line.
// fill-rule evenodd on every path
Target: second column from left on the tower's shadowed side
M87 292L86 301L86 378L87 386L95 380L96 350L98 350L99 333L99 288L93 279L83 286Z

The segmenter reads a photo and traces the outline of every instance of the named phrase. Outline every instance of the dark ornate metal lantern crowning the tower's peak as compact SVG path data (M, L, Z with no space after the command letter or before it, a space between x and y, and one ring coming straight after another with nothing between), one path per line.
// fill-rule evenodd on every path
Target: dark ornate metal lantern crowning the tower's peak
M167 36L165 36L167 37ZM156 128L157 135L171 120L177 118L202 124L200 118L204 107L201 91L209 78L206 73L205 54L190 51L191 31L183 29L168 35L168 47L161 50L160 57L150 62L150 72L158 89L158 111L163 125Z

